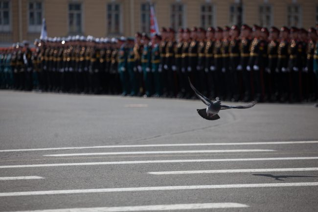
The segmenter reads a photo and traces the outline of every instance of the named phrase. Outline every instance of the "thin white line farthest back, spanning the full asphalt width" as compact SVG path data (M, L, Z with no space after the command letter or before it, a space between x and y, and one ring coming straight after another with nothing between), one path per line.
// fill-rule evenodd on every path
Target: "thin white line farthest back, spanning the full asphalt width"
M167 144L136 144L136 145L106 145L106 146L78 146L36 149L0 149L0 152L68 150L68 149L102 149L102 148L133 148L133 147L168 147L168 146L230 146L230 145L268 145L268 144L301 144L318 143L318 141L269 141L269 142L232 142L232 143L167 143Z

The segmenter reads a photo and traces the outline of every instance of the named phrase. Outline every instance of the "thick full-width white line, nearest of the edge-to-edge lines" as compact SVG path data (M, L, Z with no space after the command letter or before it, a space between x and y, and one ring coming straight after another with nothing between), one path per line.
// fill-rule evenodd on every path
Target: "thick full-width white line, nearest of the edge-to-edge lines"
M5 192L5 193L0 193L0 197L74 194L74 193L108 193L108 192L126 192L126 191L190 190L190 189L213 189L213 188L265 188L265 187L296 187L296 186L318 186L318 182L226 184L226 185L199 185L199 186L161 186L161 187L135 187L135 188L96 188L96 189L73 189L73 190L39 190L39 191Z

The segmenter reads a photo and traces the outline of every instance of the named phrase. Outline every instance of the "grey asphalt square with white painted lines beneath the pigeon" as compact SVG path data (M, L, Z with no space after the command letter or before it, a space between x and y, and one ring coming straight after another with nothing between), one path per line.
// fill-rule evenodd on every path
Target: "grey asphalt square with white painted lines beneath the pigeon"
M0 212L318 211L318 108L204 106L0 91Z

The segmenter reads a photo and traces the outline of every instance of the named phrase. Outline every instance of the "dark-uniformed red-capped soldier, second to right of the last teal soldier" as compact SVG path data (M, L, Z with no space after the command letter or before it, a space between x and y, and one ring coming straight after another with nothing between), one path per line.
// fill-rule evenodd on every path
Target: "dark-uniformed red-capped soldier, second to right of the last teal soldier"
M167 92L168 97L176 96L177 92L177 74L175 67L175 30L169 28L167 30L167 44L166 44L166 58L164 64L164 70L166 70L166 80L167 80Z

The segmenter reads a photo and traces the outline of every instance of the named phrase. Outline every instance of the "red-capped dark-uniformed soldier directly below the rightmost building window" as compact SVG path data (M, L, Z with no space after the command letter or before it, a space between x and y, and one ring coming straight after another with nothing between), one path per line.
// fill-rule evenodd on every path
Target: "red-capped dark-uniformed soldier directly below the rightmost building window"
M302 99L302 43L298 40L299 30L296 27L291 28L290 43L288 46L289 62L288 68L290 71L290 101L301 101Z

